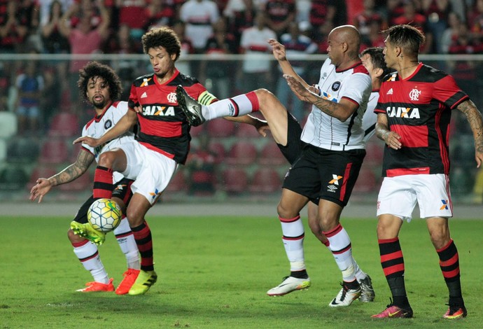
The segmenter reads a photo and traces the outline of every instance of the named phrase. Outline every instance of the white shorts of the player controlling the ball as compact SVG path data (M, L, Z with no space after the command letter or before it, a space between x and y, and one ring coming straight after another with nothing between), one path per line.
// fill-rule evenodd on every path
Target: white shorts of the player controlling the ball
M154 204L168 186L178 164L137 142L122 144L119 148L124 151L127 158L126 170L121 174L127 179L135 180L131 186L132 193L144 195L151 204Z

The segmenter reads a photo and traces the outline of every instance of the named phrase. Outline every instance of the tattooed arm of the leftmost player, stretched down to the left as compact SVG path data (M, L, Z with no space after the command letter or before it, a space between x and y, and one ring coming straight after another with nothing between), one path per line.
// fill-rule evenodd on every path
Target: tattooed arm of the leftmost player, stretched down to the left
M50 188L78 179L85 173L93 161L94 155L81 149L77 155L76 162L66 167L62 172L55 174L49 179L37 179L35 186L30 190L30 201L35 201L38 197L38 203L41 203L43 196L50 191Z

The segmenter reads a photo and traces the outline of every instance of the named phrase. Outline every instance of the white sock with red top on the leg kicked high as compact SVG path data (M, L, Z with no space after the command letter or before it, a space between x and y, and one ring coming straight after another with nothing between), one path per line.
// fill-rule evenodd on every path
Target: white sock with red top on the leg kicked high
M258 109L260 109L258 97L255 92L248 92L232 98L221 99L209 106L202 105L202 115L206 120L213 120L224 116L244 116L258 111Z

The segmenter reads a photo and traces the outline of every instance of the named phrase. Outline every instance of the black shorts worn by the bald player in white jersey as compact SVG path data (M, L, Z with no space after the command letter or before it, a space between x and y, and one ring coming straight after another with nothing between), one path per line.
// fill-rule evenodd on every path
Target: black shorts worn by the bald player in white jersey
M329 151L316 146L303 148L290 168L283 188L345 207L356 184L365 150Z

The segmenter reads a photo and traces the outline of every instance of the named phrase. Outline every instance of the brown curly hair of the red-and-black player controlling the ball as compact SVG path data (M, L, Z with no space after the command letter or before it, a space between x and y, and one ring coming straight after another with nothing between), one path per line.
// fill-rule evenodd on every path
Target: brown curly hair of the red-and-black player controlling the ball
M169 27L158 27L148 31L142 36L141 43L143 44L143 51L148 53L150 48L165 48L169 55L176 54L174 62L181 54L181 42L176 32Z

